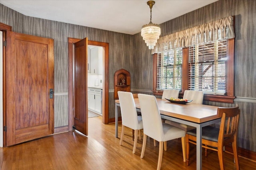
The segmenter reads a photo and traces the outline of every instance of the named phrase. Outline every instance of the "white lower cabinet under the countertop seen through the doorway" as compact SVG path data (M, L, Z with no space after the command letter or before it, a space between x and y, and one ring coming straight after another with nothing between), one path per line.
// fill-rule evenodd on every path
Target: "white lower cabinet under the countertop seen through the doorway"
M100 89L88 88L88 109L102 115Z

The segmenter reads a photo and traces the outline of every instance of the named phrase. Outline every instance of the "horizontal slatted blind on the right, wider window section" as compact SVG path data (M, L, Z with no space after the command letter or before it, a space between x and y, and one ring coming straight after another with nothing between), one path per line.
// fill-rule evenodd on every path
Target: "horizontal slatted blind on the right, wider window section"
M225 95L227 39L189 47L189 90Z

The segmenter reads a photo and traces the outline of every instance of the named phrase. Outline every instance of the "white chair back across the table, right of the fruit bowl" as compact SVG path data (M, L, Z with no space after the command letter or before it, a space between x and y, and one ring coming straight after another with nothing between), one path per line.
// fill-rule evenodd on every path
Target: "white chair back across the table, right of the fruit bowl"
M193 100L187 104L203 104L204 92L197 90L185 90L183 99Z

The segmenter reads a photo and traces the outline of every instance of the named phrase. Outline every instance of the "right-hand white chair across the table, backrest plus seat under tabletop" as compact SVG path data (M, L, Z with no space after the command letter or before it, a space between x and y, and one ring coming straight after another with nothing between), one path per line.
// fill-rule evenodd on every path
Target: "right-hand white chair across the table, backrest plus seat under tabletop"
M193 100L192 102L187 103L187 104L203 104L204 92L197 91L197 90L185 90L183 99ZM185 125L183 123L178 123L175 121L165 120L165 123L168 123L172 126L183 129L184 131L189 131L191 129L195 129L195 127Z

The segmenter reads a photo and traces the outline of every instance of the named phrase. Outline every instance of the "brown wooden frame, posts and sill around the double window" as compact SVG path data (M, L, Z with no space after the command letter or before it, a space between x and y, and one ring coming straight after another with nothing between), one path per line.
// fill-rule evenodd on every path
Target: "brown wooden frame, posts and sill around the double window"
M234 103L234 41L235 39L228 39L227 43L227 93L226 96L204 94L204 100L212 102ZM182 85L179 98L183 97L185 90L188 90L188 47L182 48ZM153 94L162 95L162 90L156 90L157 81L157 53L153 55Z

